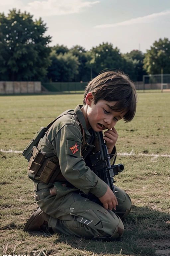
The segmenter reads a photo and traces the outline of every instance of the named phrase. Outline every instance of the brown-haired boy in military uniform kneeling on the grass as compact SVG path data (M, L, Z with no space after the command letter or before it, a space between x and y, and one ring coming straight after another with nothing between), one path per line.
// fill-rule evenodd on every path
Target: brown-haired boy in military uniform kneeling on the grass
M24 231L48 230L106 240L122 235L122 220L130 212L131 200L114 185L115 196L92 171L90 155L98 151L97 132L107 130L103 138L111 163L115 162L118 133L114 126L120 119L133 119L136 98L135 86L125 74L104 72L89 82L83 106L63 113L53 123L29 163L28 175L35 182L40 208L27 221ZM43 156L41 168L37 167ZM36 168L40 168L39 175L33 176ZM55 171L48 175L48 182L42 182L51 169ZM85 197L89 192L99 198L102 206Z

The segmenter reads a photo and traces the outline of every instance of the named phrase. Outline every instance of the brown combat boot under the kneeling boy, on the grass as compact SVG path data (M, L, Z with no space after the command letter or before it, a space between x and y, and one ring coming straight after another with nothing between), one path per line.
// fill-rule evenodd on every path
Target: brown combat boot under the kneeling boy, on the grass
M32 231L45 231L48 227L48 220L50 216L44 213L40 208L36 212L34 212L31 217L27 220L24 231L32 232Z

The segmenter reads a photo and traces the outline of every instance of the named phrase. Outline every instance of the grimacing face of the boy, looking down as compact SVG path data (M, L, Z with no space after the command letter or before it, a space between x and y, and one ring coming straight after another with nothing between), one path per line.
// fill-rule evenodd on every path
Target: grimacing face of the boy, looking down
M116 101L99 100L95 105L93 99L87 99L86 122L88 121L94 131L110 130L124 117L126 112L116 112L111 109L115 104Z

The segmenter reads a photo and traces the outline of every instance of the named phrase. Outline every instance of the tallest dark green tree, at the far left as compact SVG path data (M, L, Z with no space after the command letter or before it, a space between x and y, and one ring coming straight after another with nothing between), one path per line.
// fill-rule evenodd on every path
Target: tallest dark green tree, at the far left
M10 10L0 13L0 80L42 80L50 65L50 36L42 19Z

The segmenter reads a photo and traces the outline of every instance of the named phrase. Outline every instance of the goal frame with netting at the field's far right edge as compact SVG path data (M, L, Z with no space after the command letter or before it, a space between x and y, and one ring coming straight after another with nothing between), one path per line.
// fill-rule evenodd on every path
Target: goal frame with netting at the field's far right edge
M170 74L144 75L143 90L170 91Z

